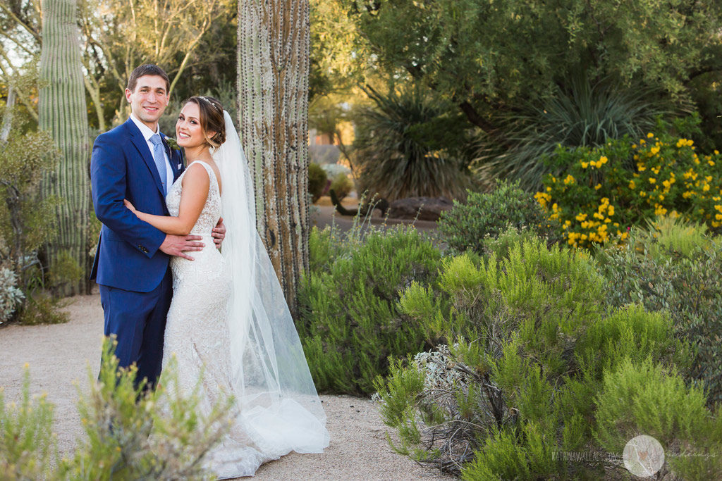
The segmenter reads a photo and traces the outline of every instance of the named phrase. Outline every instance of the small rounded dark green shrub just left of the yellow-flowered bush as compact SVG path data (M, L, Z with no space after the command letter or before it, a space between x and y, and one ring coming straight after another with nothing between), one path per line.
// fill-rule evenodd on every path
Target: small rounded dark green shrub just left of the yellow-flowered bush
M483 252L484 239L498 237L509 227L545 235L558 230L552 225L518 182L497 181L491 193L469 191L466 202L454 200L453 208L441 213L438 229L453 250Z

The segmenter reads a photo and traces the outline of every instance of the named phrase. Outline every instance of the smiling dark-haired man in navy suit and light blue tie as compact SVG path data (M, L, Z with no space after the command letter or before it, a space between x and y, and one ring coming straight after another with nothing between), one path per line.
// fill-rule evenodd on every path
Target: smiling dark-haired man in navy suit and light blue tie
M181 151L168 147L158 119L168 106L168 75L155 65L137 67L128 80L131 116L95 139L90 181L100 230L90 278L100 285L105 335L116 335L119 366L136 363L136 383L152 388L160 375L165 317L173 294L170 256L193 260L199 236L164 234L123 206L128 199L139 211L168 216L165 195L185 168ZM222 221L214 242L225 236Z

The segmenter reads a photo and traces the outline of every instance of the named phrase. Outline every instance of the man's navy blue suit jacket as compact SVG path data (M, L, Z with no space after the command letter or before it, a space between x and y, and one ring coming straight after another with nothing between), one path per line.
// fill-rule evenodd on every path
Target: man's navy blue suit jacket
M183 155L161 137L175 180L185 168ZM158 250L165 234L138 219L123 199L141 212L160 216L167 216L168 208L152 154L133 120L97 136L90 183L95 216L103 223L90 278L126 291L152 291L168 269L170 256Z

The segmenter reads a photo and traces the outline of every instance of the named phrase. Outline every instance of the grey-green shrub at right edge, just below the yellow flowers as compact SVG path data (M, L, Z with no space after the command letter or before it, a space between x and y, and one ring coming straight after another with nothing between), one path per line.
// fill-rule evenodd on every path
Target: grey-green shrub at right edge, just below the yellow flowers
M675 334L695 348L686 374L704 381L710 403L722 401L722 348L710 334L722 331L722 244L692 224L663 222L597 258L609 304L669 312Z

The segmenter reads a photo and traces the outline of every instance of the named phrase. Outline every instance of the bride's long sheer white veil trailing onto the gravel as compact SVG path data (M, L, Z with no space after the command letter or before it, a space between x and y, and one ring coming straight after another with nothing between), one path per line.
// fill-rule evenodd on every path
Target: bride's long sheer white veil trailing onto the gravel
M268 253L256 231L256 202L248 162L230 115L226 141L213 157L222 182L227 233L222 256L230 266L228 307L232 388L239 421L264 454L317 453L329 446L326 415Z

